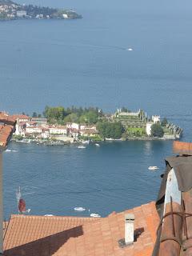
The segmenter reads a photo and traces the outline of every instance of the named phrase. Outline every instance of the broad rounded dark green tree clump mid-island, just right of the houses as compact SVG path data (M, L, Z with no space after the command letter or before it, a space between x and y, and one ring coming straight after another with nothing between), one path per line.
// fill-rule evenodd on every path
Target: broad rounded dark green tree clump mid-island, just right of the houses
M102 138L122 138L124 132L121 122L98 122L97 129Z

